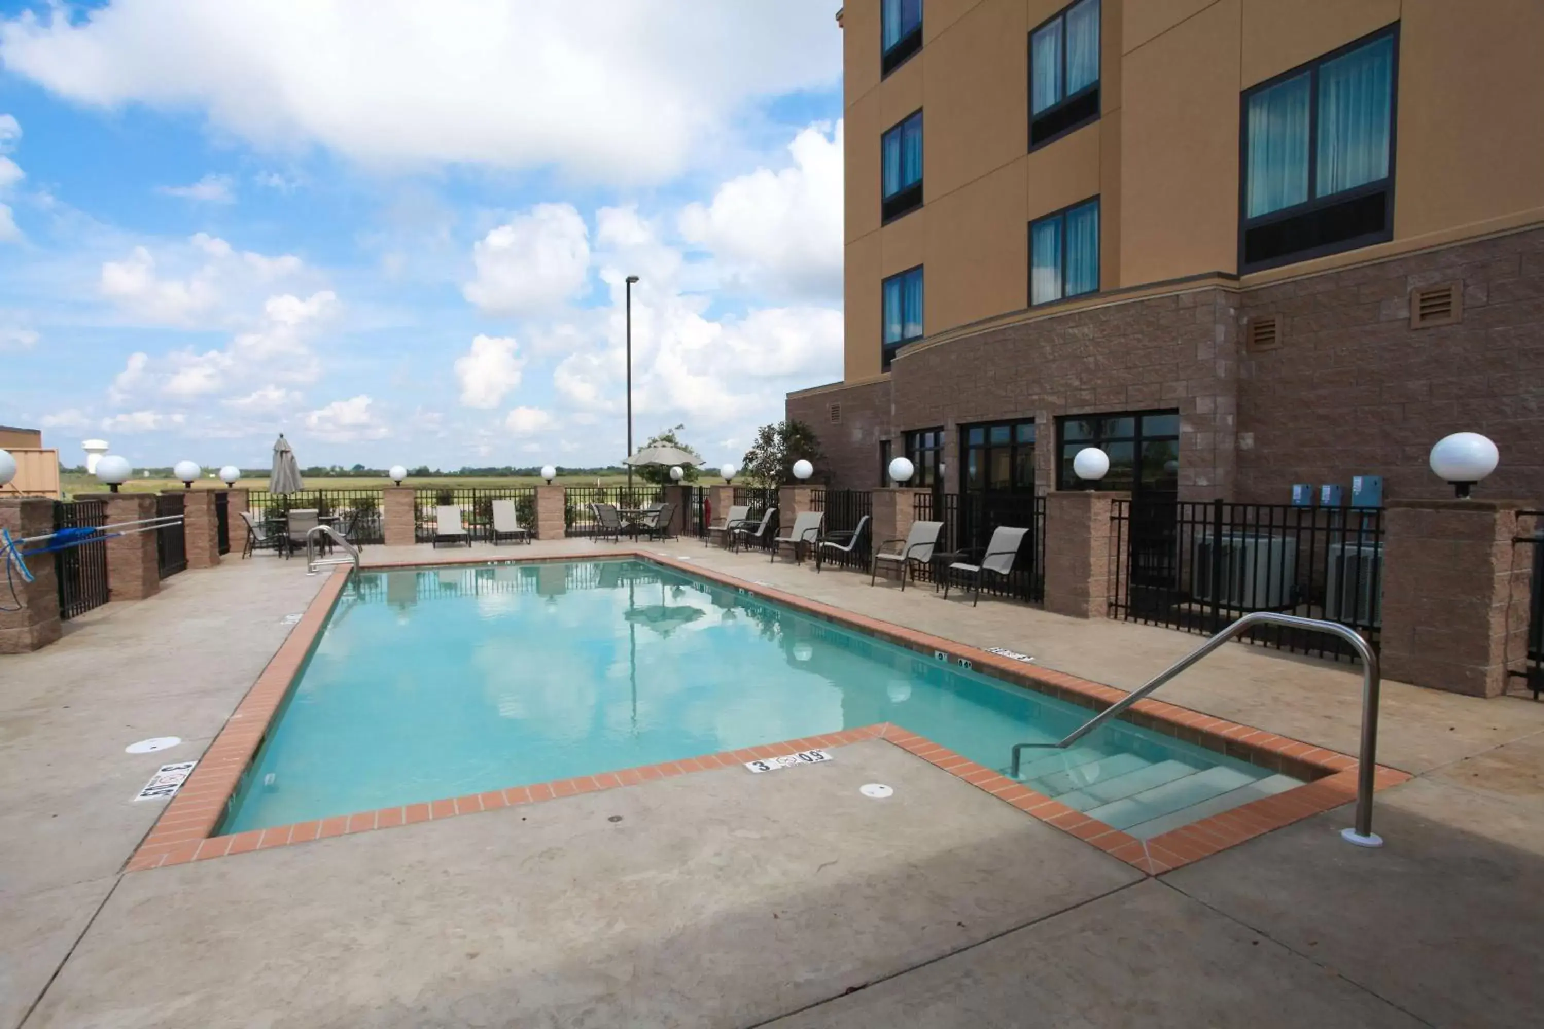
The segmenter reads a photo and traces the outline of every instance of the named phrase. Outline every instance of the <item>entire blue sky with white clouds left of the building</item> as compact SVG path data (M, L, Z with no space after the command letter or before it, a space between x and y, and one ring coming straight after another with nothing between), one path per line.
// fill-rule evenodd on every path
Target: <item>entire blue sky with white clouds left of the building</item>
M576 17L582 9L584 17ZM738 458L840 378L828 0L0 0L0 424L65 463Z

